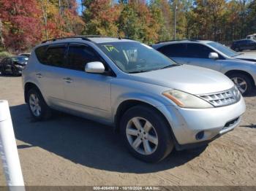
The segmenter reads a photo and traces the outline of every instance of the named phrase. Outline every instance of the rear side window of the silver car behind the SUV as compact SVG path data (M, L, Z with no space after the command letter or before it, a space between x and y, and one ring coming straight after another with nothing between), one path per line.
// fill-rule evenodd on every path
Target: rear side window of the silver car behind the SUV
M167 57L184 57L187 45L181 44L169 44L159 48L159 52L162 52Z

